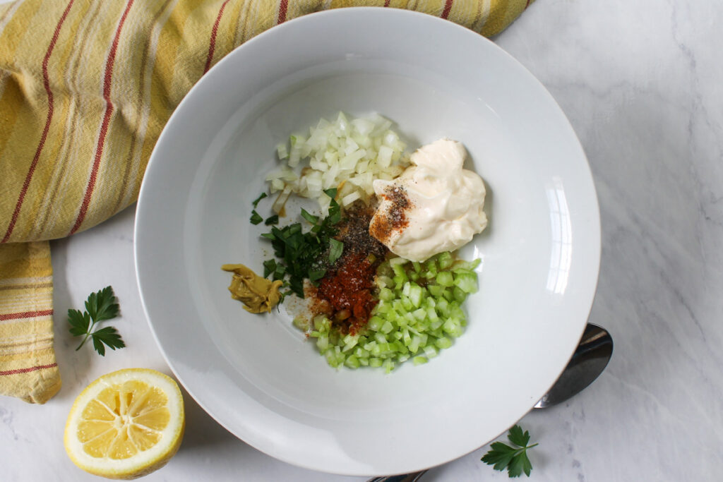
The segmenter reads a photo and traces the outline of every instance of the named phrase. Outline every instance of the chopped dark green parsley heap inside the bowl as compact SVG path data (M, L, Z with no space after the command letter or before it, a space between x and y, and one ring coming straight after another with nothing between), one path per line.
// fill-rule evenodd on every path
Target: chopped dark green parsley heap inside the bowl
M261 236L271 241L275 257L264 262L264 277L270 275L274 280L285 280L288 275L288 288L299 298L304 298L304 279L317 282L326 274L326 268L333 264L344 249L344 244L333 238L337 230L334 227L341 221L341 207L335 201L336 189L324 191L331 198L326 218L320 220L301 209L301 218L312 224L312 228L304 233L301 223L294 223L283 228L272 226L270 233ZM328 263L322 259L325 251L329 251Z

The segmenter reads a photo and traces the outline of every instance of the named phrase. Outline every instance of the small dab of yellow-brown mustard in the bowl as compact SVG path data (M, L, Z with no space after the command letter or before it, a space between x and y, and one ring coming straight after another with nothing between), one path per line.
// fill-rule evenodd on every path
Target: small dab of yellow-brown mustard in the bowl
M224 264L221 269L234 273L228 291L231 291L231 298L244 304L246 311L270 312L281 300L281 293L278 291L283 284L281 280L267 280L243 264Z

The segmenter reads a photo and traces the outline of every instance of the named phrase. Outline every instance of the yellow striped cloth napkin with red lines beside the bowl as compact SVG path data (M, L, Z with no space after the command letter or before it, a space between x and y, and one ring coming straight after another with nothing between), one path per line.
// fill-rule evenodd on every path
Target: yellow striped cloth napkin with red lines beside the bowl
M48 240L90 228L136 200L168 116L226 53L274 25L324 9L412 9L491 36L530 3L25 0L0 6L0 394L45 403L60 389Z

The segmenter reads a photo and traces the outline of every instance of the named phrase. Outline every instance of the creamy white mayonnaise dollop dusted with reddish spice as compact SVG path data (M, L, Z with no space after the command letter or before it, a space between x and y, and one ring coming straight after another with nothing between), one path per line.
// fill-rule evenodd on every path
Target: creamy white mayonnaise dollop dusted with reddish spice
M409 166L392 181L376 179L380 205L369 233L394 254L424 261L454 251L487 226L484 183L463 169L467 151L461 142L440 139L420 147Z

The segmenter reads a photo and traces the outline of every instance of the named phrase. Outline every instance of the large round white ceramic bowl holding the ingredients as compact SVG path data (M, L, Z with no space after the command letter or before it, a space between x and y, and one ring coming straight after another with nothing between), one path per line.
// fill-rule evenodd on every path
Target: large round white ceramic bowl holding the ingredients
M489 227L469 326L423 366L339 371L282 309L247 314L221 264L260 269L251 201L274 146L338 111L393 119L410 147L448 136L487 183ZM193 87L155 146L137 208L145 311L189 393L257 449L349 475L405 473L466 454L552 386L586 324L599 212L585 155L517 61L458 25L340 9L245 43Z

